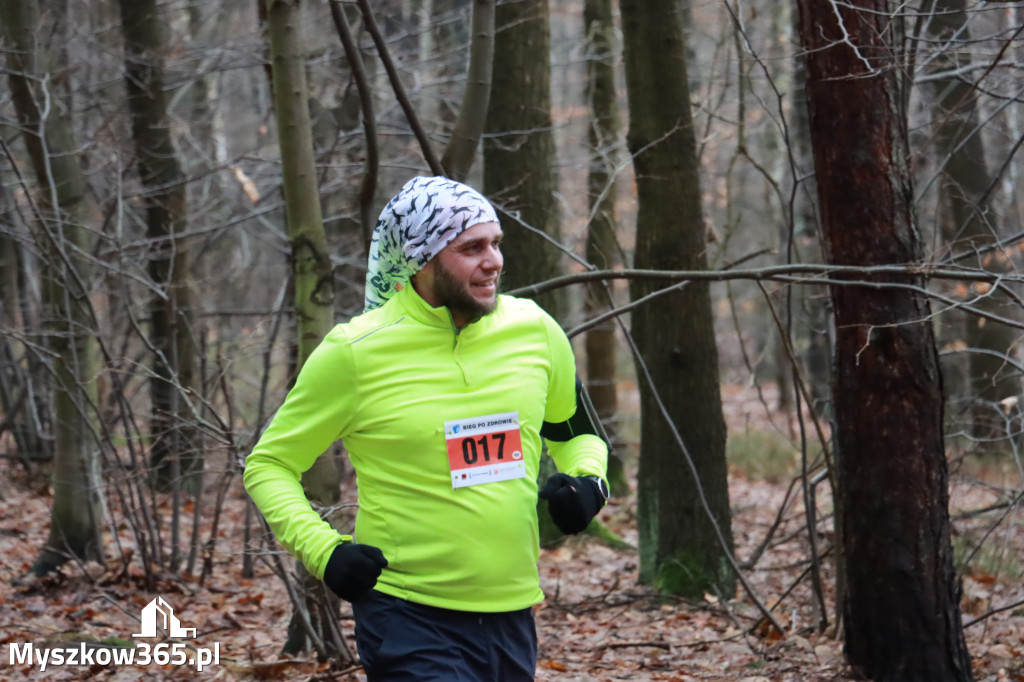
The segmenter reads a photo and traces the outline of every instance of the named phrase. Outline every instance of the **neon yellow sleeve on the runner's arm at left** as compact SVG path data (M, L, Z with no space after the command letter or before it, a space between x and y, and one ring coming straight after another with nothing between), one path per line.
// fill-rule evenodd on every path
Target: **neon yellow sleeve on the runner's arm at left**
M301 477L342 436L358 406L348 339L335 328L303 365L295 386L246 458L243 481L278 541L323 580L331 552L351 540L313 510Z

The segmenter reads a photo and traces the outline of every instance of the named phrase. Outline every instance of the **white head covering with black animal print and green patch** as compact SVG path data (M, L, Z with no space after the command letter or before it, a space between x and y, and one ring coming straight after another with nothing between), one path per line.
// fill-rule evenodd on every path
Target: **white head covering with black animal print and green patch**
M464 230L498 222L480 193L446 177L414 177L387 203L374 227L364 311L384 305Z

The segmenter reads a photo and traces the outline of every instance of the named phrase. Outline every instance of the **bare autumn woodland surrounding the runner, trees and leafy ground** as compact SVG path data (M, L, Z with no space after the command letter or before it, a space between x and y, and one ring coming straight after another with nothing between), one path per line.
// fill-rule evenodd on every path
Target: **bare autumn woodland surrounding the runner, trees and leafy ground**
M615 443L602 522L545 539L540 679L1024 679L1022 18L4 0L0 641L123 646L163 594L222 642L211 676L359 677L347 606L282 555L240 474L302 359L360 311L383 204L444 172L499 207L505 288L572 336ZM834 53L853 66L815 61ZM871 167L864 131L890 129ZM837 324L860 304L884 314ZM310 497L347 529L341 447L317 467ZM877 522L911 507L921 526ZM858 639L927 630L904 573L965 626L907 640L939 672Z

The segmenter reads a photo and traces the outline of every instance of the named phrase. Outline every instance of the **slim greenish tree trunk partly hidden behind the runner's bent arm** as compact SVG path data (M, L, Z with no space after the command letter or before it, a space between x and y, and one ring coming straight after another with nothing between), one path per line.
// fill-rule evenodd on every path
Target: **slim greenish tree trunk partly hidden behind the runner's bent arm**
M324 233L316 172L313 164L312 129L309 120L305 76L305 43L302 39L299 0L267 0L267 33L270 41L273 109L281 144L288 236L292 247L292 278L295 286L295 321L299 369L319 345L333 324L334 286L331 260ZM329 508L341 497L341 472L328 451L302 475L302 487L314 506ZM332 641L329 624L336 617L337 602L321 601L319 590L299 566L304 578L301 590L317 638ZM299 615L293 613L285 653L297 653L307 645ZM344 652L334 651L343 654Z

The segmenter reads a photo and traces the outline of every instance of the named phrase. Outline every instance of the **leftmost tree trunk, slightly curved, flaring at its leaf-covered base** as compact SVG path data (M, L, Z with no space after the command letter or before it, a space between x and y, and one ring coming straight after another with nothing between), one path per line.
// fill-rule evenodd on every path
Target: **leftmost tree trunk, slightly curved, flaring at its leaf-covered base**
M49 20L58 20L53 12ZM59 36L44 27L34 0L0 3L11 99L39 186L42 220L34 227L43 255L43 318L52 353L53 507L46 545L32 566L50 572L65 561L103 560L99 446L94 437L96 329L88 297L91 253L89 204L70 123L54 101L56 46L39 36ZM41 106L42 105L42 106Z

